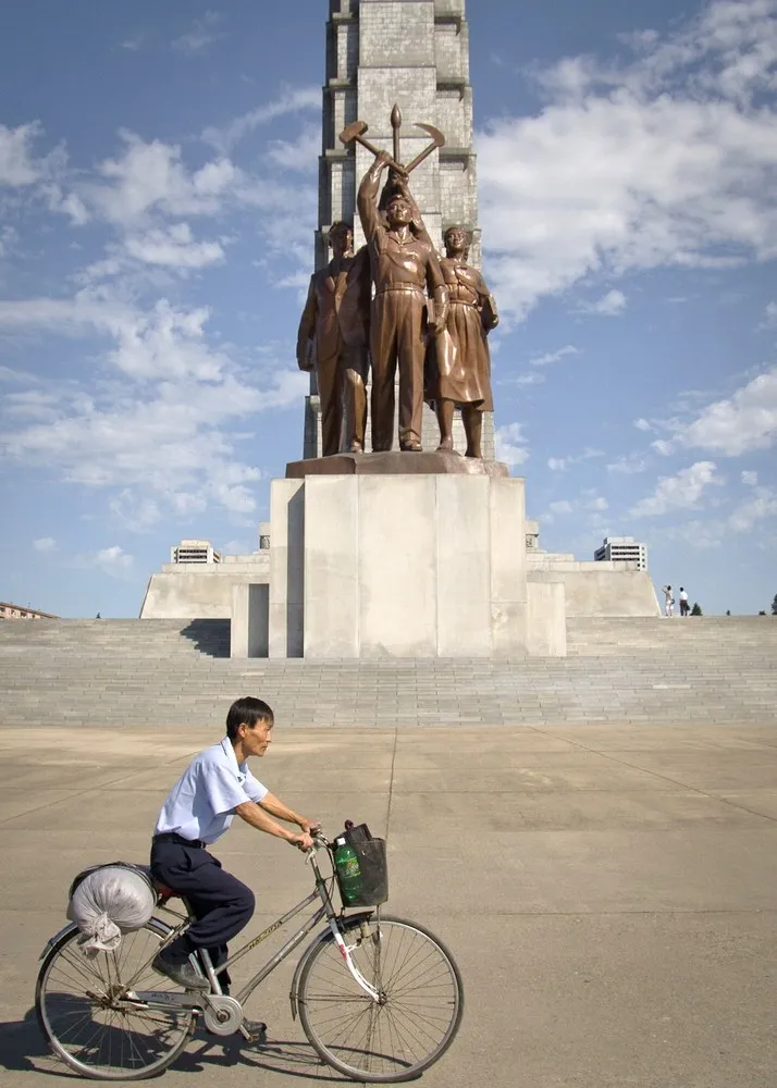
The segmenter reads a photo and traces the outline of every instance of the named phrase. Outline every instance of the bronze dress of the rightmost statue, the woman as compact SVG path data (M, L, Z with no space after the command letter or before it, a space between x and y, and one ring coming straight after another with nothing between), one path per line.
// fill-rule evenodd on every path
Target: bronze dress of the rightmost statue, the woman
M460 260L440 261L449 297L445 330L431 342L425 399L453 400L493 411L486 330L496 323L494 300L480 272Z

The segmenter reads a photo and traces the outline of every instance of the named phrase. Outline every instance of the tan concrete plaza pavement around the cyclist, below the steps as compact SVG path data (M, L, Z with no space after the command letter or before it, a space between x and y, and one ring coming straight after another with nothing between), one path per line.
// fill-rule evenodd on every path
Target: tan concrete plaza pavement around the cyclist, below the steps
M218 739L0 729L1 1085L73 1083L35 1023L38 953L64 924L75 873L145 861L166 790ZM428 1088L774 1088L774 726L279 724L254 767L331 831L345 818L387 831L386 910L454 952L467 1006ZM256 931L307 892L308 869L235 825L215 852L256 890ZM270 1025L268 1049L198 1034L164 1083L342 1081L292 1021L291 976L289 961L249 1005Z

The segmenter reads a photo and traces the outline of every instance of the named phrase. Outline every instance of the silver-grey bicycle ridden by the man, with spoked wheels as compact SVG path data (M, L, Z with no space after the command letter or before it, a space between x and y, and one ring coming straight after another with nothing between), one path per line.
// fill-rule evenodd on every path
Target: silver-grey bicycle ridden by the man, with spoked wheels
M35 992L38 1023L53 1052L84 1077L155 1076L184 1050L200 1016L217 1036L239 1033L251 993L325 919L299 959L289 992L292 1015L299 1016L310 1046L344 1076L369 1084L415 1079L429 1068L453 1042L464 1013L452 954L423 926L382 916L380 907L346 914L343 905L337 912L333 846L321 833L313 842L307 860L314 890L218 969L233 966L317 899L320 904L236 997L223 993L205 950L192 961L210 992L184 990L151 968L155 955L194 922L172 911L170 889L157 886L157 905L178 924L151 917L113 952L89 957L75 924L60 930L40 955ZM321 871L320 850L328 852L331 875ZM155 988L145 989L150 982Z

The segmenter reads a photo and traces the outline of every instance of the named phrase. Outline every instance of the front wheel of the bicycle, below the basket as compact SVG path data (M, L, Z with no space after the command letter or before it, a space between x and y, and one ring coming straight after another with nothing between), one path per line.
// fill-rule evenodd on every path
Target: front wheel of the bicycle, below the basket
M311 1047L354 1080L411 1080L453 1042L464 1013L458 967L445 945L415 922L345 918L354 963L379 992L354 979L332 937L307 953L297 990Z

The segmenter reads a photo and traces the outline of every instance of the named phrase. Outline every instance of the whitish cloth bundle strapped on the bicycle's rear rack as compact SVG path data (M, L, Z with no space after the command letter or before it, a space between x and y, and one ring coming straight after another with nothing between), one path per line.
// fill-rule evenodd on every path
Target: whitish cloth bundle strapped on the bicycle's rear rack
M101 865L81 880L67 904L67 917L88 938L85 952L112 952L122 934L140 929L157 905L151 881L139 869Z

